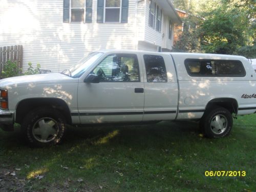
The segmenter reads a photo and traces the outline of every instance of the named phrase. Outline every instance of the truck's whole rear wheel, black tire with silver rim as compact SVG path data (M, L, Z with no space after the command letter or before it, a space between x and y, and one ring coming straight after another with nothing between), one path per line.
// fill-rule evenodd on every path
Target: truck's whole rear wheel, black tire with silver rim
M206 110L200 121L200 129L206 137L221 138L228 136L233 125L231 113L220 106Z

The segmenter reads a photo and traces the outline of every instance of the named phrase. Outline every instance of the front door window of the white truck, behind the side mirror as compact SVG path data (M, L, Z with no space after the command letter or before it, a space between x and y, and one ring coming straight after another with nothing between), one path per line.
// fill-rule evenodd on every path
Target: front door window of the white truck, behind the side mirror
M139 82L139 63L135 54L111 54L92 71L100 82Z

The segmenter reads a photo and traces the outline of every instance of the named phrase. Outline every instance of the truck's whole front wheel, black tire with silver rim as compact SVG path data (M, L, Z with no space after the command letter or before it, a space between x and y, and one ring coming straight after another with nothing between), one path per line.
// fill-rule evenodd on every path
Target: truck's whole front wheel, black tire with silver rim
M66 132L66 120L58 110L37 108L26 115L21 131L31 146L51 146L62 140Z

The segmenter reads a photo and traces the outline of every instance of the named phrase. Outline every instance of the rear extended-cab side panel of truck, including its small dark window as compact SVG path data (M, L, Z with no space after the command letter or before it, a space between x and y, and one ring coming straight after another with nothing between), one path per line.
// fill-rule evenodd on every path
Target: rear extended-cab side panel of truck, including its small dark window
M178 106L178 83L172 57L142 54L144 62L143 121L173 120Z

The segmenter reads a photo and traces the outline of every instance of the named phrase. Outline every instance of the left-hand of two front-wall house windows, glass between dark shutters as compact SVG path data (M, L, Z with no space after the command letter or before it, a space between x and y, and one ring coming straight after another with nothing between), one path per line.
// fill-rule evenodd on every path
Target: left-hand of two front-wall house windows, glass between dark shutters
M83 22L84 0L71 0L71 22Z

